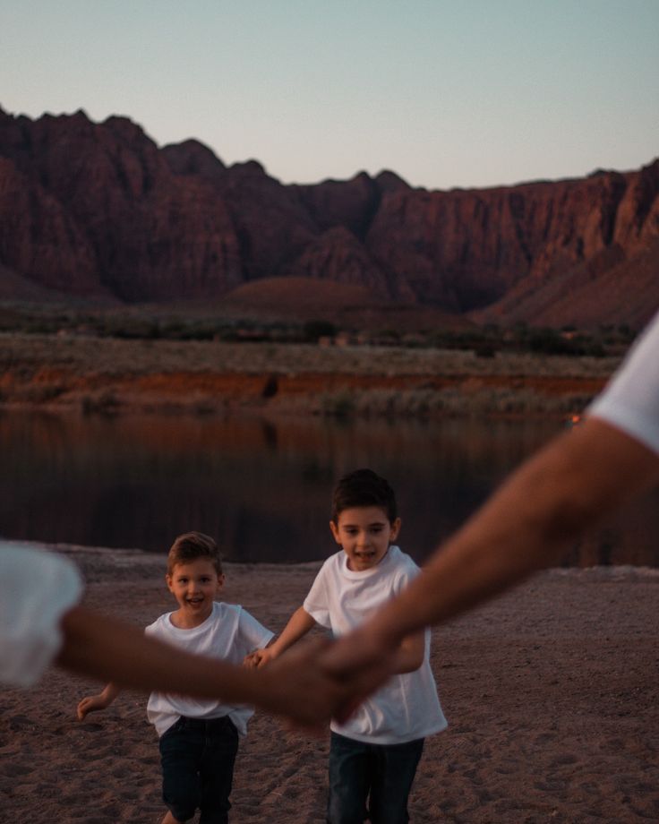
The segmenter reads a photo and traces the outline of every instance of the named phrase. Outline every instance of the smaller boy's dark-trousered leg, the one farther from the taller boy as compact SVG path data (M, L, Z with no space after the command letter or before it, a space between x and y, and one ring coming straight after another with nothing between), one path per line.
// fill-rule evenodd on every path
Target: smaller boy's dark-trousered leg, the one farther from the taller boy
M188 718L179 718L160 738L162 798L175 821L192 819L199 806L202 743L199 729Z

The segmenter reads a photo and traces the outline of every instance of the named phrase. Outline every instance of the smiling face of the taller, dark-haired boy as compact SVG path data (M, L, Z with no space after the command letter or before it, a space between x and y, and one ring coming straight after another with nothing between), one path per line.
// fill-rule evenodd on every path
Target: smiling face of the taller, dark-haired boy
M390 523L379 506L355 506L339 512L336 523L329 521L329 528L347 554L348 569L363 572L387 554L389 544L398 536L400 519Z

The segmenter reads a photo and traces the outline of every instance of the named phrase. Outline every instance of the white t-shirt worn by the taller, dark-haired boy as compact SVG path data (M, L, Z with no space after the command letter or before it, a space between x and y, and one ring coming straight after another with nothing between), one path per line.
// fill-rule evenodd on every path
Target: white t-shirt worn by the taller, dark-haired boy
M331 555L304 599L304 610L334 635L355 629L390 598L397 596L419 568L398 546L370 570L348 569L347 554ZM430 667L430 630L425 631L424 663L414 673L393 675L364 701L346 724L332 721L339 735L376 744L415 741L439 733L447 723Z

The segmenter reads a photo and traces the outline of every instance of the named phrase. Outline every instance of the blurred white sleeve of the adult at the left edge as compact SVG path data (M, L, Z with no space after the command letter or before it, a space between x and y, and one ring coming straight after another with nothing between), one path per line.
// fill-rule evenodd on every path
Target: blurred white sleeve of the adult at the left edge
M82 594L61 555L0 543L0 682L29 687L62 646L59 622Z

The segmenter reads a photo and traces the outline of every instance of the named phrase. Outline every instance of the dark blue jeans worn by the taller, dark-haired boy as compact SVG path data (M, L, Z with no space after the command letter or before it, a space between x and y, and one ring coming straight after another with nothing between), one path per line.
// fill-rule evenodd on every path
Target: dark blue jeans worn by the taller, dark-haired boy
M366 819L372 824L407 824L407 798L423 751L423 738L370 744L332 733L329 824L362 824Z

